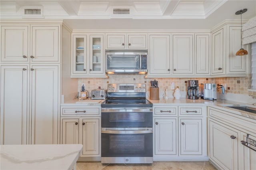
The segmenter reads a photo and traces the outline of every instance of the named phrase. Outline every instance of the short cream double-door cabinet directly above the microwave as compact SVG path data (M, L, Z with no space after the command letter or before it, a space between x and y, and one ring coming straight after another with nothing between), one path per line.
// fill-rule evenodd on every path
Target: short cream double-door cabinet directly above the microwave
M148 49L148 35L145 33L107 33L106 49Z

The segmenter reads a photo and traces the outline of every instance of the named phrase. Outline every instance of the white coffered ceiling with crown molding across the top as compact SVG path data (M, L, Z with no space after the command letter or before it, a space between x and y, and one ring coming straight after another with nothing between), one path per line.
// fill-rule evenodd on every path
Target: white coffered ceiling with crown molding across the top
M223 20L256 16L256 0L0 0L2 19L63 19L72 29L211 29ZM42 15L24 16L24 8ZM128 9L129 14L113 14Z

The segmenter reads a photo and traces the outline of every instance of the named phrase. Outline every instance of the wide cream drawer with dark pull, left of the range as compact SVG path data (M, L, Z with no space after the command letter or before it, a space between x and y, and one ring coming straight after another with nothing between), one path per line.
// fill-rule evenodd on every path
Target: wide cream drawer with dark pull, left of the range
M90 107L62 107L62 116L100 116L100 108L90 108Z

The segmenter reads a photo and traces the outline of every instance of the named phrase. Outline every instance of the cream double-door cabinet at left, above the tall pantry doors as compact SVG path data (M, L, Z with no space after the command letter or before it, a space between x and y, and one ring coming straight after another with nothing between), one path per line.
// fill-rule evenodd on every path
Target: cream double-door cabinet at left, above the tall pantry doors
M60 63L60 24L2 24L1 33L2 63Z

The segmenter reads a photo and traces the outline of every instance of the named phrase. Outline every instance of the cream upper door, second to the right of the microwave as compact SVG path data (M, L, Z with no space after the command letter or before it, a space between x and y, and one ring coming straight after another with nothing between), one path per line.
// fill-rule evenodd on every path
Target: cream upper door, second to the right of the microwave
M193 35L173 35L173 74L193 73Z

